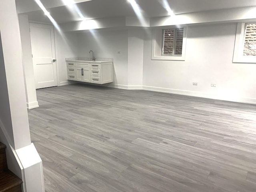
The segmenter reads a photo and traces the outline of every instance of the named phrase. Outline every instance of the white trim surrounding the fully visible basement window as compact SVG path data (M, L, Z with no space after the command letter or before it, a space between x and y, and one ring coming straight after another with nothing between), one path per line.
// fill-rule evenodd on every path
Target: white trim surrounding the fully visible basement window
M187 27L184 26L183 42L182 42L182 55L181 56L168 56L162 55L162 30L163 28L154 29L152 36L152 60L178 60L184 61L186 55L186 42L187 42ZM166 28L165 28L166 29Z

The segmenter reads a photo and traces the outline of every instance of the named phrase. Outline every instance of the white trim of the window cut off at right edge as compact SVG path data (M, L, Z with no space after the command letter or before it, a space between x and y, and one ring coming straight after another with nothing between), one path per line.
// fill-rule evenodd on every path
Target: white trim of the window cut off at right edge
M246 23L252 23L252 22L246 22ZM256 63L256 56L243 55L246 23L240 22L237 24L233 63Z

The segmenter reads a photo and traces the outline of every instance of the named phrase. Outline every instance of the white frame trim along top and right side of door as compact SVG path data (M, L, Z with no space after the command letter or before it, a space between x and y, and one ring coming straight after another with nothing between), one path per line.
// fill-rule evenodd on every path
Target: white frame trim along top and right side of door
M54 34L54 44L55 44L55 57L56 57L56 75L57 75L57 86L62 86L62 85L66 85L66 84L61 84L60 82L60 66L59 66L59 56L58 56L58 44L57 44L57 41L56 41L56 28L55 26L52 24L52 23L48 23L48 22L38 22L38 21L33 21L33 20L28 20L28 23L36 23L36 24L44 24L44 25L51 25L53 26L53 34ZM30 44L31 44L31 39L30 39Z

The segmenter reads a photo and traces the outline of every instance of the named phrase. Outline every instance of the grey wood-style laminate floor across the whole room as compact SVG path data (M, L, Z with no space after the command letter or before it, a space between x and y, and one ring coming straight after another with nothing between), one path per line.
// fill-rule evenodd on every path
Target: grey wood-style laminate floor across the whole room
M256 192L256 106L73 84L28 111L46 192Z

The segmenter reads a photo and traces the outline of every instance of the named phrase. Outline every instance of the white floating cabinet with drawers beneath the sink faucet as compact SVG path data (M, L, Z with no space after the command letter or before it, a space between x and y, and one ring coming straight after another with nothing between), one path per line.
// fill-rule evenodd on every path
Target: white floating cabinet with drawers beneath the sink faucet
M105 84L113 82L113 62L67 61L68 80Z

